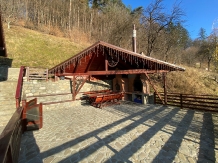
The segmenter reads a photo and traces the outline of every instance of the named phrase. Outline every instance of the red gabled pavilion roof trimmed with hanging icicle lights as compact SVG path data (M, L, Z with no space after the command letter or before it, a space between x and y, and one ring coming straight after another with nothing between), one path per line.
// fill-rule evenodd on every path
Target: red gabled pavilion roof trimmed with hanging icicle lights
M108 63L108 64L107 64ZM99 41L49 69L62 75L114 75L185 71L184 68Z

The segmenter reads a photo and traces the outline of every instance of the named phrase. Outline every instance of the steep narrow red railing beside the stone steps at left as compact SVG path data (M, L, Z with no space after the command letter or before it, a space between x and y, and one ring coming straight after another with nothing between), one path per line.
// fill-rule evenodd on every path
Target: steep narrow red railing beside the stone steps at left
M25 67L21 66L18 81L17 81L16 94L15 94L16 108L20 107L24 74L25 74Z

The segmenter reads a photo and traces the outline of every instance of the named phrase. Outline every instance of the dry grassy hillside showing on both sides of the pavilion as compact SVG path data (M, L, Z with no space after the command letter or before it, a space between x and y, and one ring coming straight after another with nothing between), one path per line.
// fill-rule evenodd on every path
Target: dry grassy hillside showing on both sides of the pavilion
M19 26L5 29L5 38L12 67L51 68L89 46L76 44L67 38L56 37ZM181 65L182 66L182 65ZM184 66L183 66L184 67ZM169 92L218 95L218 74L206 70L185 67L185 72L171 72L167 76ZM153 78L159 91L162 80Z

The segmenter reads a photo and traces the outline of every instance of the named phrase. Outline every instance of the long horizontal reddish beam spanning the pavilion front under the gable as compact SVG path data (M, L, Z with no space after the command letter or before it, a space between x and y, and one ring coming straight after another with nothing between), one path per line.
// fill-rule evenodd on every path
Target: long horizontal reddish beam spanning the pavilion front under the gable
M56 76L83 76L83 75L116 75L116 74L153 74L169 72L168 70L145 70L145 69L134 69L134 70L108 70L108 71L88 71L86 73L56 73Z

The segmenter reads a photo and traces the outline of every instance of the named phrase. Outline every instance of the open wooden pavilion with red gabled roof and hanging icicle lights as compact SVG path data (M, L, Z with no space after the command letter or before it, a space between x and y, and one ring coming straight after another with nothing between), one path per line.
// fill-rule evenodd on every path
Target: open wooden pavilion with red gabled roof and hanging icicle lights
M158 94L148 74L161 73L165 92L163 104L167 103L166 74L171 71L185 69L102 41L49 69L50 74L72 81L73 100L91 78L113 80L113 90L124 92L126 99L134 93L149 94L149 84ZM82 82L77 82L81 79Z

